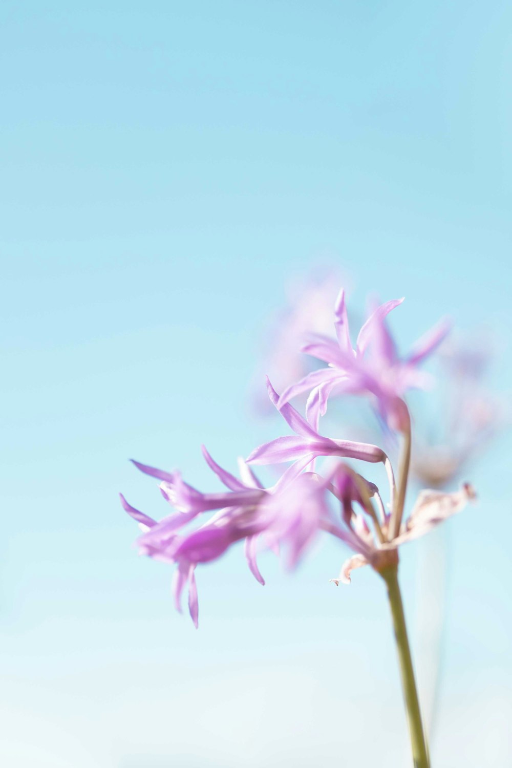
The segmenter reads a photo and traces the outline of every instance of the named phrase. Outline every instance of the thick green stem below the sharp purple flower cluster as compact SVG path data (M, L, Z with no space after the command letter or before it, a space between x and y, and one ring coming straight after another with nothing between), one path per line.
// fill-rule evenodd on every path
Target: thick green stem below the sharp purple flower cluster
M412 667L411 650L409 649L407 627L405 626L404 606L401 601L400 586L398 584L398 565L384 568L381 571L381 576L388 587L389 605L395 629L401 686L405 699L414 766L415 768L430 768L428 746L421 723L415 671Z

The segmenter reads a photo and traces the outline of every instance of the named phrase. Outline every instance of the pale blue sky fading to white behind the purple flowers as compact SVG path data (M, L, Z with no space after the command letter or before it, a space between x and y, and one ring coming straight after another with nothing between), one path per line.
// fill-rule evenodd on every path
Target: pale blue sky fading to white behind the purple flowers
M5 0L0 22L8 765L408 765L374 574L335 591L327 544L292 578L263 557L262 589L235 551L198 576L196 632L117 492L164 515L127 458L207 490L201 442L233 468L279 433L248 382L317 263L355 306L405 295L405 346L486 323L510 392L510 4ZM510 760L511 447L404 553L415 626L448 551L438 768Z

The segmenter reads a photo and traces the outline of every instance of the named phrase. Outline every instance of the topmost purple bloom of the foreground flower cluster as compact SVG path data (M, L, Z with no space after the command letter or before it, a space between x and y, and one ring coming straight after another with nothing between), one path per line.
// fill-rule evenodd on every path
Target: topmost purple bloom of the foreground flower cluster
M408 429L405 392L421 388L428 382L418 365L441 343L449 325L444 320L434 326L415 343L405 358L400 358L385 318L402 301L391 300L378 306L359 331L353 348L342 290L335 303L337 340L318 335L302 348L303 352L326 362L328 367L315 370L289 386L282 392L279 405L310 390L306 412L308 420L317 423L319 415L325 414L332 394L368 395L391 429L405 432Z

